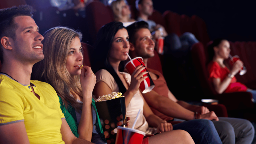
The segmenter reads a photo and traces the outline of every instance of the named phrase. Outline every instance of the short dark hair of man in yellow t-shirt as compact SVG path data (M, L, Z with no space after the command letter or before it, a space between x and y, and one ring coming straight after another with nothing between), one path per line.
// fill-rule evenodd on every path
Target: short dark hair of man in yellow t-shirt
M13 6L11 8L0 9L0 39L3 36L11 37L15 40L15 31L18 28L14 23L17 16L33 16L33 8L30 5ZM0 60L3 63L3 49L0 45Z

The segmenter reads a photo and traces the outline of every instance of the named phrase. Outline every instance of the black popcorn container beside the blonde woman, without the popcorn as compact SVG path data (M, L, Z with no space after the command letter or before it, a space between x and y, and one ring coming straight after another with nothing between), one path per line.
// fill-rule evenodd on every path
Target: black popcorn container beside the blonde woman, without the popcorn
M114 144L116 140L116 133L114 129L117 126L126 126L126 108L125 98L116 98L112 100L95 102L100 123L108 144Z

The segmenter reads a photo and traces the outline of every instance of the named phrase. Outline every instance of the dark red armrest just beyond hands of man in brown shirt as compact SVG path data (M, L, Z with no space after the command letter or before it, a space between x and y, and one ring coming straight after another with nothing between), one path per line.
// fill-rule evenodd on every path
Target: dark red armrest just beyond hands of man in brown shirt
M218 117L228 117L227 108L223 104L217 105L204 105L210 111L214 111Z

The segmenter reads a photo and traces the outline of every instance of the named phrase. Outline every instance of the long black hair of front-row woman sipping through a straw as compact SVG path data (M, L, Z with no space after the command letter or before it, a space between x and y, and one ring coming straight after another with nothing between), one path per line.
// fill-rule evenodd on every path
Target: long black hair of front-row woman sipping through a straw
M100 69L106 69L114 77L119 87L119 91L125 93L126 88L124 87L124 84L108 61L108 54L112 46L114 36L119 29L123 28L125 28L123 23L116 21L107 23L100 28L96 36L96 43L94 45L95 50L93 54L94 60L92 62L92 70L94 73L96 73Z

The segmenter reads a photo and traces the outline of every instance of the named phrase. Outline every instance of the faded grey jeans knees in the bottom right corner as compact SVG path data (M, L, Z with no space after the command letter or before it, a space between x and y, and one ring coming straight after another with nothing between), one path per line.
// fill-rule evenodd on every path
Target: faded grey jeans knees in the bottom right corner
M254 137L252 123L245 119L219 117L212 121L223 144L251 144Z

